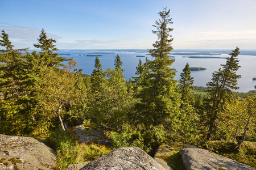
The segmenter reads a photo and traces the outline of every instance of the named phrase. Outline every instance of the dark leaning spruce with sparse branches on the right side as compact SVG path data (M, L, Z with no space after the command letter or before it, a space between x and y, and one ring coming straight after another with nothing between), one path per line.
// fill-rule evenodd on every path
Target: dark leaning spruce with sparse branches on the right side
M226 64L221 65L222 70L214 71L212 82L207 83L208 99L205 99L205 113L208 126L207 139L212 134L217 134L218 120L220 112L227 101L233 97L232 90L237 90L237 79L241 75L237 75L236 71L240 68L236 57L239 54L239 48L230 53L230 57L226 58Z

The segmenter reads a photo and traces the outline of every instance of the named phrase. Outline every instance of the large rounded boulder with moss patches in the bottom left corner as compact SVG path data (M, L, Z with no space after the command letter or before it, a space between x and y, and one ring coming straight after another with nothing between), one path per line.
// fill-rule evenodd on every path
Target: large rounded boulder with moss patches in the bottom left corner
M51 148L30 137L0 134L0 169L53 169Z

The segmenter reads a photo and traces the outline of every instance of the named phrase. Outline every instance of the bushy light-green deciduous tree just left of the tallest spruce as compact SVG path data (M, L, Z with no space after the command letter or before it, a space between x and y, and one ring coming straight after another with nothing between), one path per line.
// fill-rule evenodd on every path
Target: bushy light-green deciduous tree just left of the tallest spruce
M98 65L97 63L99 61L96 60L95 66ZM99 83L99 88L97 91L92 90L92 93L90 93L88 107L89 117L92 118L93 122L119 130L128 121L129 109L134 101L132 94L127 90L127 83L123 77L121 66L121 59L117 55L115 57L115 68L106 70L104 74L100 73L100 76L98 76L100 81L96 81L96 71L93 72L91 83Z

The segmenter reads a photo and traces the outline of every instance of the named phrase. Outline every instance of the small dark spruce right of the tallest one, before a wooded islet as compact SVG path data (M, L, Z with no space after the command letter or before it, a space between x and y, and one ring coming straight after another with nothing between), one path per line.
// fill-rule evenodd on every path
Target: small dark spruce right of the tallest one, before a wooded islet
M194 82L194 78L191 77L191 73L189 70L189 64L185 65L184 69L182 70L183 73L180 73L180 81L179 81L179 90L181 94L181 103L180 108L184 109L184 105L188 105L191 99L193 98L191 89L192 84Z

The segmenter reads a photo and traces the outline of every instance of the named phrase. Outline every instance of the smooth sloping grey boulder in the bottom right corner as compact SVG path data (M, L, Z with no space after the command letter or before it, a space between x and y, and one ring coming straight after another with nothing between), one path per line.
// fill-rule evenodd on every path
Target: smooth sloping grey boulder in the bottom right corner
M249 165L238 163L235 160L225 158L224 156L195 146L187 146L183 148L180 150L180 154L183 159L184 167L188 170L255 170Z

